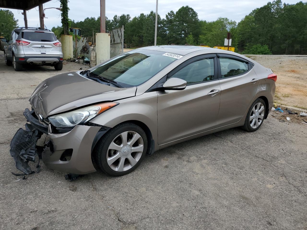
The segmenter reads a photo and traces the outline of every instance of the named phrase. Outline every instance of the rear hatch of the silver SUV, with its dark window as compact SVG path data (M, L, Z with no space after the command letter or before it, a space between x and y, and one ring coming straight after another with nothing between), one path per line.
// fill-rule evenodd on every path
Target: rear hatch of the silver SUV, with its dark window
M52 32L45 31L22 31L21 38L29 42L23 45L25 56L59 56L60 47L54 45L58 42L56 36Z

